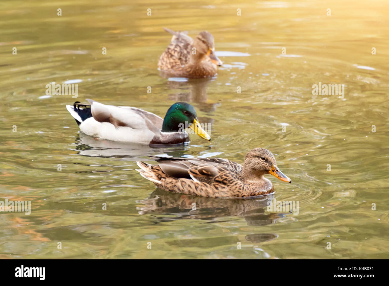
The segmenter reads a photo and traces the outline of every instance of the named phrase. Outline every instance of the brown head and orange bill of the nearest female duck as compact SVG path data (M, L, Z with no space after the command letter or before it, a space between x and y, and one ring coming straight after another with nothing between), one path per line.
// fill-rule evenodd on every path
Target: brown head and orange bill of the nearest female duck
M262 177L270 173L281 181L292 182L277 167L272 152L265 148L255 148L249 151L245 156L242 171L244 177Z

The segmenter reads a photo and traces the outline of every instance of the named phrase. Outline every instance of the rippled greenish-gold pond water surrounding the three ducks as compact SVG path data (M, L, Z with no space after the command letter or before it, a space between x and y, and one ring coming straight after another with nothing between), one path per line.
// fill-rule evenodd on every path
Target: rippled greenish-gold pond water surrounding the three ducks
M30 215L0 212L0 258L389 257L386 0L0 7L0 200L32 204ZM171 38L164 26L212 33L224 62L217 77L161 77L157 61ZM51 82L77 83L78 98L46 95ZM313 95L319 82L344 84L344 98ZM65 108L85 98L162 117L190 102L212 141L96 140ZM242 162L254 147L270 149L292 184L268 176L276 189L268 198L199 198L156 189L134 170L148 154ZM298 201L299 213L266 211L272 198Z

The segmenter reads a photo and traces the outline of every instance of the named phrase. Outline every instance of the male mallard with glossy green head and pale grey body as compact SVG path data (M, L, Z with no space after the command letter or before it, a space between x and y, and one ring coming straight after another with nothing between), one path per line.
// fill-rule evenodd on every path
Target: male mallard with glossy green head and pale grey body
M66 105L82 132L89 136L142 144L180 144L189 142L185 128L189 126L205 140L211 140L197 121L195 108L176 102L165 119L130 106L105 105L87 99L89 104Z

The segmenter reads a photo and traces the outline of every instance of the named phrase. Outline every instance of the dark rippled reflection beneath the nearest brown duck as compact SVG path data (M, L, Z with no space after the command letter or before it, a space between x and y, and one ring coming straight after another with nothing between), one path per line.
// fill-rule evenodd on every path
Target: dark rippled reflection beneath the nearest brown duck
M231 217L243 217L249 226L265 226L276 223L287 213L266 213L267 202L274 195L257 198L206 198L156 189L149 198L139 200L139 214L156 216L159 222L178 219L201 219L206 223L231 221ZM165 216L164 216L165 215ZM221 220L220 218L226 218ZM278 237L273 233L253 233L246 236L251 242L263 242Z

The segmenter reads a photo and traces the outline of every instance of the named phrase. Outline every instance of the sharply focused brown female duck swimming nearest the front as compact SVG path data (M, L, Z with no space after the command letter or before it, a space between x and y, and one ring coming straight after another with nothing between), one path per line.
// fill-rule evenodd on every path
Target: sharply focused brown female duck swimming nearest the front
M221 158L166 158L151 156L158 165L137 161L142 177L166 191L202 197L253 197L274 192L272 182L263 175L270 173L284 182L275 158L267 149L249 151L243 166Z

